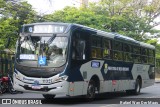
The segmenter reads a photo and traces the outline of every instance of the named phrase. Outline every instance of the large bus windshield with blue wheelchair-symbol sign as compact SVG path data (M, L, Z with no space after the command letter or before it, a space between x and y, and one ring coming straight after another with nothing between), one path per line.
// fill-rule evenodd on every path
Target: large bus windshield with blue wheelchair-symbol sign
M67 37L25 36L17 42L16 60L29 67L60 67L67 56Z

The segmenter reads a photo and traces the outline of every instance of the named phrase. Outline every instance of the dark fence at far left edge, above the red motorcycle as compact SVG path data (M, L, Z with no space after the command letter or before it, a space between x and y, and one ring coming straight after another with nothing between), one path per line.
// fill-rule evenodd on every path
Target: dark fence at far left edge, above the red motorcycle
M0 77L6 76L9 70L14 68L14 54L0 51Z

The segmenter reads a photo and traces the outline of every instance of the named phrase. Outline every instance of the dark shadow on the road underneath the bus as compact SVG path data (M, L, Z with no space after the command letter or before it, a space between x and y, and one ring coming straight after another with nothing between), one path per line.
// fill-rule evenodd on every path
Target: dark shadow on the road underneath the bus
M145 94L145 93L141 93ZM114 104L119 101L121 97L132 96L127 95L125 92L114 92L99 94L93 101L86 101L84 97L67 97L55 98L52 100L42 99L43 104L60 104L60 105L73 105L73 104ZM118 100L117 100L118 99ZM126 98L127 99L127 98Z

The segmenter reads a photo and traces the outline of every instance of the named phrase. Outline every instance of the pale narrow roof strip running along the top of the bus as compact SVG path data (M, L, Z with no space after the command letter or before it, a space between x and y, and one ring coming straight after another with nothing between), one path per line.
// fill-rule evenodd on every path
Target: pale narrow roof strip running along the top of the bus
M96 32L97 35L101 35L101 36L104 36L104 37L107 37L107 38L110 38L110 39L114 39L114 40L117 40L117 41L121 41L121 42L124 42L124 43L129 43L129 44L133 44L133 45L138 45L138 46L145 47L145 48L155 49L155 46L137 41L137 40L135 40L131 37L123 36L123 35L120 35L120 34L114 33L114 32L105 32L105 31L102 31L102 30L97 30L97 29L94 29L94 28L91 28L91 27L88 27L88 26L84 26L84 25L80 25L80 24L76 24L76 23L39 22L39 23L32 23L32 24L24 24L23 26L45 25L45 24L65 25L69 28L71 26L77 26L77 27L80 27L84 30L89 30L89 31Z

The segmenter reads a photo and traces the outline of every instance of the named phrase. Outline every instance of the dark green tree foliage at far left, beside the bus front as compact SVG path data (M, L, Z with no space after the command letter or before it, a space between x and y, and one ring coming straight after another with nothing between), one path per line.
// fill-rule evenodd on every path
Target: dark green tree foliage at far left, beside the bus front
M15 48L18 33L23 24L38 21L37 13L27 2L0 0L0 49L4 49L7 38L10 48Z

